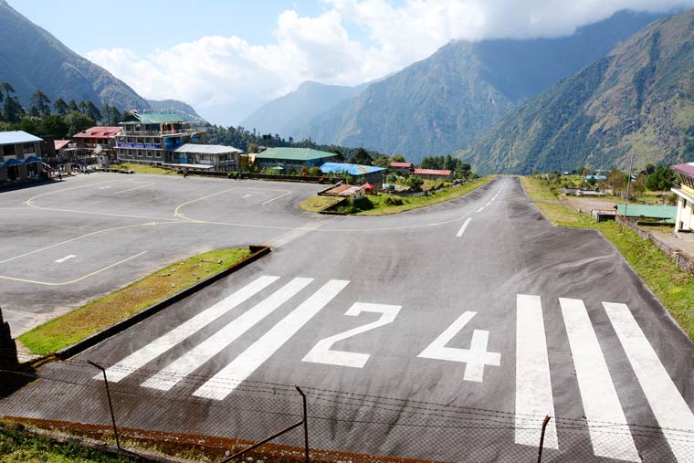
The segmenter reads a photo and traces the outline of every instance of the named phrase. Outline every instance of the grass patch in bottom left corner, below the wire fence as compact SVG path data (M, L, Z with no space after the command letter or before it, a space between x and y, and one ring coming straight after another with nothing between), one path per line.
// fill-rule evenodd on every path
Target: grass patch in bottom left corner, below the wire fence
M82 447L72 441L58 442L22 430L21 426L0 424L0 461L3 463L118 463L148 461L119 458L98 448Z

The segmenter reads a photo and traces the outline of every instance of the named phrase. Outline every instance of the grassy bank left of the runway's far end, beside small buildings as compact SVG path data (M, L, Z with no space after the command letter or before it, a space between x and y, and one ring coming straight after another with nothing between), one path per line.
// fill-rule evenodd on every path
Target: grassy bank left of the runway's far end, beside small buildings
M488 175L473 182L469 182L468 184L446 188L426 196L405 197L387 194L367 195L363 201L355 202L354 205L349 207L345 212L357 216L388 216L391 214L398 214L419 207L437 205L455 199L459 196L468 194L483 184L489 183L494 178L496 178L496 175ZM399 202L398 200L402 200L402 204L397 204Z

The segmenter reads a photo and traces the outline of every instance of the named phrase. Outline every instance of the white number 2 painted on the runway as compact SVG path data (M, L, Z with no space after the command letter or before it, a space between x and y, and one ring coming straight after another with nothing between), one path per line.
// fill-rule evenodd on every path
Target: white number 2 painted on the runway
M356 302L345 312L345 315L356 317L362 312L381 313L381 318L377 321L372 321L363 326L352 328L352 330L335 334L330 338L325 338L319 341L313 349L303 358L304 362L312 363L328 363L331 365L352 366L354 368L363 368L363 365L369 360L368 353L349 353L345 351L331 350L332 344L340 342L357 334L366 331L371 331L380 326L384 326L395 320L397 313L402 306L385 305L385 304L367 304L364 302Z

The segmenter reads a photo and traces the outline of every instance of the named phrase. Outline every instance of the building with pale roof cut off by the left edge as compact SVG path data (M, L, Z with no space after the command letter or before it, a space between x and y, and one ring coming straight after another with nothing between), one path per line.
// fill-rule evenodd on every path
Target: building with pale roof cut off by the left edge
M43 140L24 131L0 132L0 182L37 177L43 172Z

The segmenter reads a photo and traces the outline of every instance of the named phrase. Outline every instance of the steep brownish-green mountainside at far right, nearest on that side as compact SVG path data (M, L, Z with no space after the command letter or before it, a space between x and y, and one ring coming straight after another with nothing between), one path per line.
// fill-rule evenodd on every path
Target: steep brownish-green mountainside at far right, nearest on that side
M694 159L694 11L660 19L458 154L476 172Z

